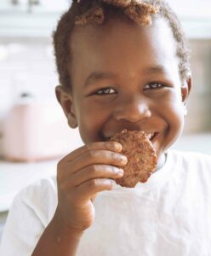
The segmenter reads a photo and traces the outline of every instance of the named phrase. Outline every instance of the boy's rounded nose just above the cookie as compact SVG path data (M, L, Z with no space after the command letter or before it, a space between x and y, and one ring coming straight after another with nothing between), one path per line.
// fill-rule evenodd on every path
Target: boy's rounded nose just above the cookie
M117 121L127 121L131 123L139 122L151 117L151 109L146 99L143 97L128 97L117 105L113 112L113 118Z

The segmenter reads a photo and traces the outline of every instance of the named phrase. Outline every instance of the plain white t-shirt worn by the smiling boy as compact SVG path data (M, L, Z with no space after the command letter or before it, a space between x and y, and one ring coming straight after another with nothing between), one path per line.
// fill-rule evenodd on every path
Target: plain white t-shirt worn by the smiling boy
M55 177L21 191L0 255L31 255L56 206ZM78 256L210 256L211 156L169 150L165 165L147 183L101 192L94 207L94 224Z

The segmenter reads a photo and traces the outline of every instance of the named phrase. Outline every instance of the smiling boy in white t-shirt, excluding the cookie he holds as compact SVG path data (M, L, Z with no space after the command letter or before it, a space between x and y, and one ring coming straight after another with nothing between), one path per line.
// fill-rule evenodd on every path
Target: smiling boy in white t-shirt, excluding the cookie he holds
M191 90L177 17L151 0L73 1L54 33L56 96L85 146L14 200L2 256L211 255L211 160L168 150ZM123 189L118 131L151 134L158 164Z

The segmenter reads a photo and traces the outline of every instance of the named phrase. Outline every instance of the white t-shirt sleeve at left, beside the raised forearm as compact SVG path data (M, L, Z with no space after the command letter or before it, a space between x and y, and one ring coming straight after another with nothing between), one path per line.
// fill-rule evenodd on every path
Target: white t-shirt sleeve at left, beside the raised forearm
M40 180L16 195L3 231L0 255L30 256L56 206L55 178Z

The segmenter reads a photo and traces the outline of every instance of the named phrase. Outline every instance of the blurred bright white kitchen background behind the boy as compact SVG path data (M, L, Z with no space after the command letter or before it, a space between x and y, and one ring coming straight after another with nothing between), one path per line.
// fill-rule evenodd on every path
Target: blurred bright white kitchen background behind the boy
M0 0L0 239L14 195L82 145L56 105L51 34L71 1ZM211 2L168 0L190 40L193 86L174 148L211 154Z

